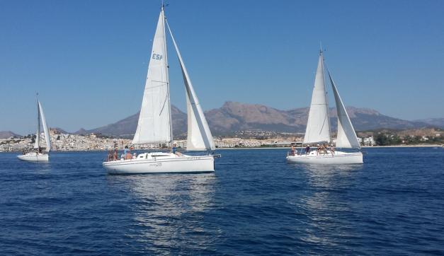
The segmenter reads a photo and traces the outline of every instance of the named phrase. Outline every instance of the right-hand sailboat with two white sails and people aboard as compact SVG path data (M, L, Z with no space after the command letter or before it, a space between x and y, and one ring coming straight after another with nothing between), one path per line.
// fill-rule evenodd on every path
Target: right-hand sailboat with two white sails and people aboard
M305 130L303 144L307 146L318 146L332 144L329 103L327 100L325 88L324 56L322 50L319 52L319 62L316 76L314 78L314 88L312 94L312 103L310 105L307 128ZM288 163L312 163L312 164L348 164L363 163L363 153L360 152L360 144L356 136L353 124L346 107L343 105L338 88L331 78L327 69L329 81L333 88L336 110L338 112L338 135L336 138L336 148L354 149L351 152L334 150L327 147L323 150L312 150L307 152L292 153L287 156ZM328 149L329 148L329 149Z

